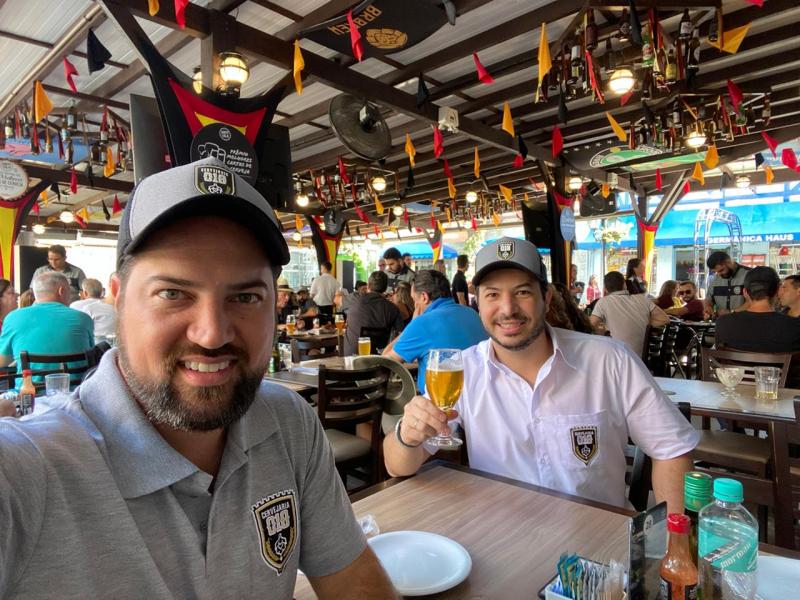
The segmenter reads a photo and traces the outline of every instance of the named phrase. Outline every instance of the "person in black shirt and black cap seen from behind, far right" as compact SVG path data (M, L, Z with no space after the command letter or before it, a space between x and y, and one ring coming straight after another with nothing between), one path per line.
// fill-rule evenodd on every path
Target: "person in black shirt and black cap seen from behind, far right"
M743 311L717 319L716 345L745 352L800 352L800 319L775 312L780 278L772 267L754 267L744 278Z

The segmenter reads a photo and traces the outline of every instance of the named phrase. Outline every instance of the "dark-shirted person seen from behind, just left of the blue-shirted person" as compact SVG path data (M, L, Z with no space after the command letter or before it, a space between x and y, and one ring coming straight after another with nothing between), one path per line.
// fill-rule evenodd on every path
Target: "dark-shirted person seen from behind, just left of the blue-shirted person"
M344 334L345 356L358 353L358 338L361 337L362 327L383 329L387 337L392 331L403 329L400 311L384 296L388 284L389 278L385 271L374 271L367 283L369 291L363 296L358 296L348 309L347 329ZM373 352L377 350L378 348L372 348Z

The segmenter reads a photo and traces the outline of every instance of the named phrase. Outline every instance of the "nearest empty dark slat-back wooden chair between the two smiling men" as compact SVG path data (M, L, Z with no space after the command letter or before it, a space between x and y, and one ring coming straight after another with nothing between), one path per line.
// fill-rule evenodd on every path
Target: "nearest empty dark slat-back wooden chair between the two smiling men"
M342 481L346 486L347 475L361 479L364 485L357 489L377 483L383 473L381 418L389 370L381 366L326 369L320 365L318 377L317 414ZM359 423L371 424L370 440L342 430L352 431Z

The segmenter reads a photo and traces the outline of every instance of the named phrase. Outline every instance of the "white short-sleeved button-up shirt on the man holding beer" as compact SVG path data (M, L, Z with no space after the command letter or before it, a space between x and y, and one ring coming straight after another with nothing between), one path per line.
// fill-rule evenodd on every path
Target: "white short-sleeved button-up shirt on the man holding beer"
M454 421L470 466L625 506L628 437L648 456L690 452L698 432L624 344L547 328L553 354L531 386L497 360L491 340L463 352Z

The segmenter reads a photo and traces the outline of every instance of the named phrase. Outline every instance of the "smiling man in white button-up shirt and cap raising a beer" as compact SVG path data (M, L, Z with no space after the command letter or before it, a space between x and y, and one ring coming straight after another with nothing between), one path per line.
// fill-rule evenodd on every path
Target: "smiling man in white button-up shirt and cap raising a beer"
M470 466L617 506L625 500L628 437L653 459L656 499L683 511L683 473L698 434L641 360L605 337L549 327L551 292L530 242L501 238L476 257L481 321L490 339L462 354L464 386L449 415ZM410 475L446 433L448 415L422 396L384 442L386 468Z

